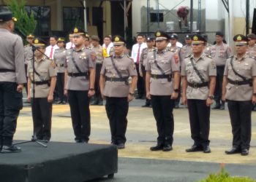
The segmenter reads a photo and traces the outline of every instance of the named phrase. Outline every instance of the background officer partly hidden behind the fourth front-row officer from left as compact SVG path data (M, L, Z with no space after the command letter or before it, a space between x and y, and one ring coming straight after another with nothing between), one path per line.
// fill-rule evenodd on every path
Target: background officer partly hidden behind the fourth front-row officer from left
M144 90L146 90L146 62L147 62L147 58L148 58L148 52L150 52L151 50L154 49L154 38L153 37L148 37L146 39L146 44L147 47L144 48L141 52L140 55L140 63L139 63L139 71L140 71L140 76L143 77L143 85L144 85ZM151 107L151 100L149 100L148 98L146 98L146 103L144 106L142 107Z

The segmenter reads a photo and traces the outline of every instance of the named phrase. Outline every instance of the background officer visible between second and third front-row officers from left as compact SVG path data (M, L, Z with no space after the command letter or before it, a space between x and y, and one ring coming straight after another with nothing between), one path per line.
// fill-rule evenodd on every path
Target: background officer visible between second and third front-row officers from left
M91 101L91 105L103 105L102 96L100 94L99 89L99 76L100 71L102 69L102 62L103 62L103 47L99 44L99 37L98 36L91 36L91 51L94 52L96 56L96 77L95 77L95 95L94 99Z

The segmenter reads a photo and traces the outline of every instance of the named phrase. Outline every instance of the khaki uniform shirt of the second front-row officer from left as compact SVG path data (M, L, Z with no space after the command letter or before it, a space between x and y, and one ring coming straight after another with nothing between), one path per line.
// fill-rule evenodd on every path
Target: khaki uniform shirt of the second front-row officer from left
M91 51L85 47L78 51L75 48L67 50L67 58L64 65L67 68L67 72L79 73L72 58L74 58L82 73L89 73L89 68L95 69L95 62L91 60ZM67 76L67 90L89 90L89 86L89 76Z

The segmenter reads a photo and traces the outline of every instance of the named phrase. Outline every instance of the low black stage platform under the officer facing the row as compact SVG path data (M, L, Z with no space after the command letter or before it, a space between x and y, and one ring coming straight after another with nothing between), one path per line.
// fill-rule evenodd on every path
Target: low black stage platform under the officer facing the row
M0 154L1 182L83 182L117 173L117 149L84 143L20 145L20 153Z

